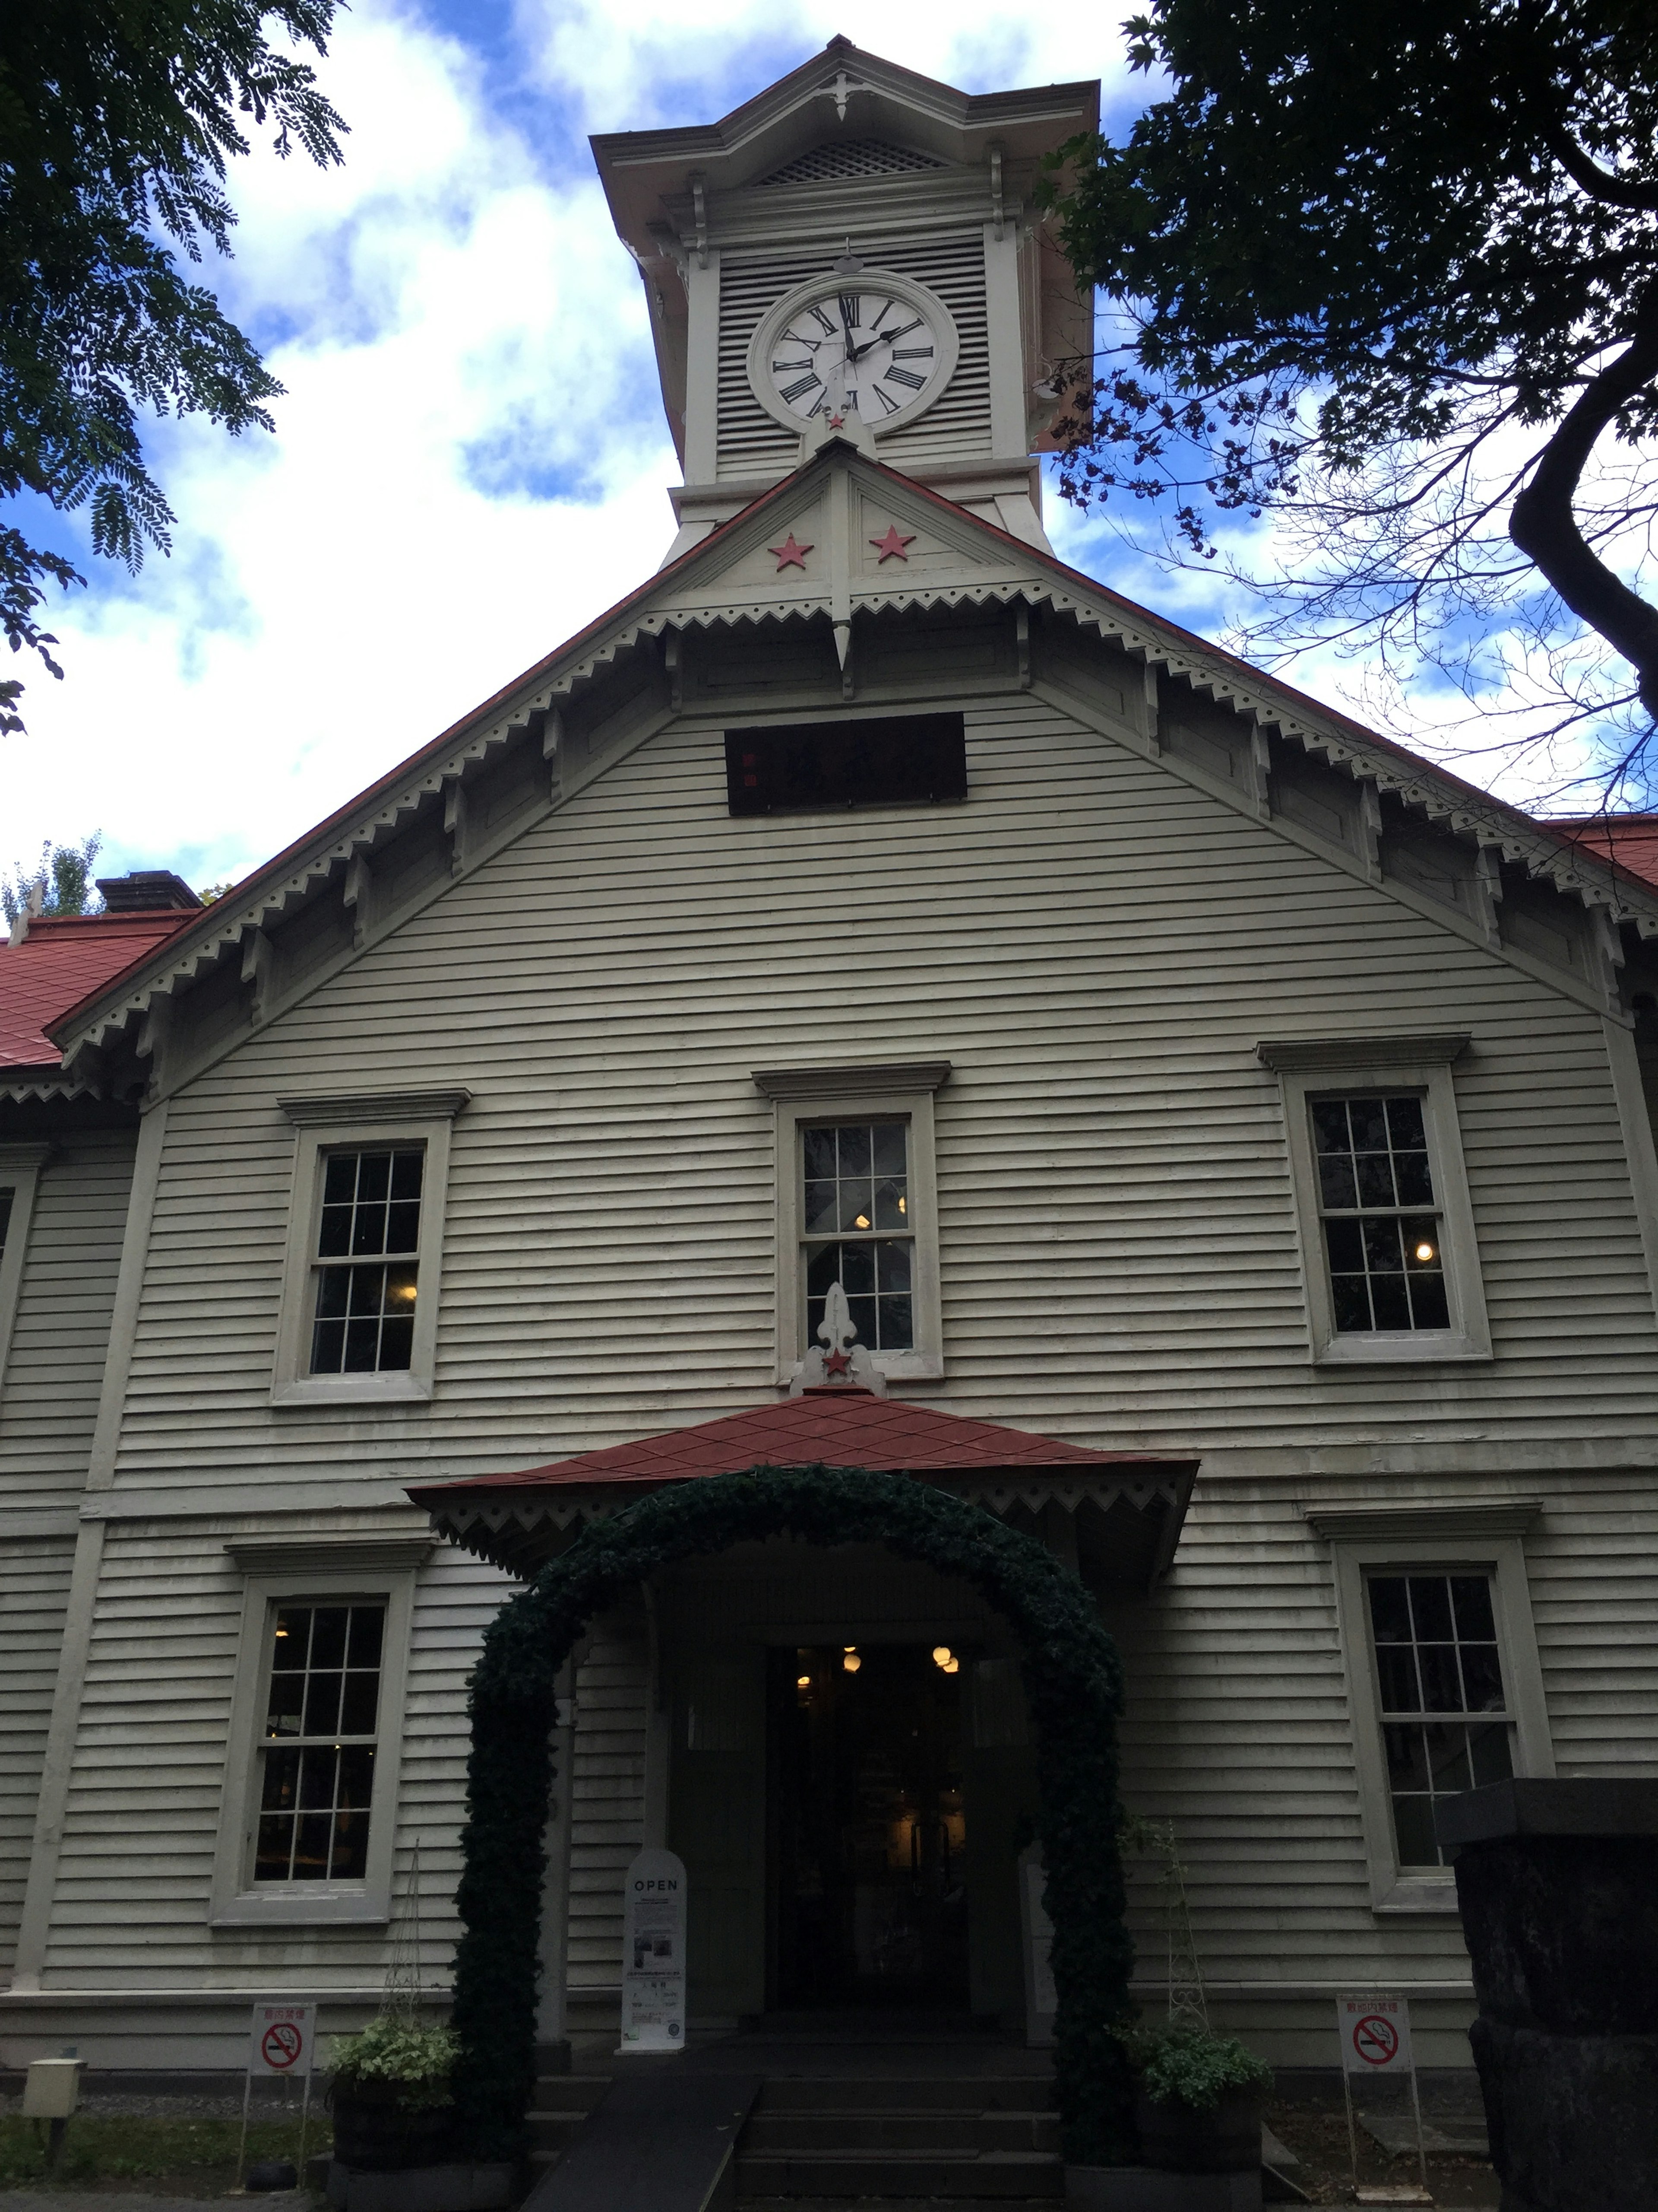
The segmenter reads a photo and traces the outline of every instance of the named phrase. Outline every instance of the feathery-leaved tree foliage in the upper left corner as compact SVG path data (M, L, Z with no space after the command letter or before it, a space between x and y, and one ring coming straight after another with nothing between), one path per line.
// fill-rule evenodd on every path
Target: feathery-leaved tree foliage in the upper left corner
M51 0L0 9L0 498L86 509L95 553L137 568L172 513L137 416L272 427L281 392L164 243L230 252L223 192L243 126L340 159L345 124L294 46L325 53L336 0ZM270 44L265 29L276 33ZM46 584L84 577L0 520L0 622L33 648ZM22 684L0 681L0 730Z

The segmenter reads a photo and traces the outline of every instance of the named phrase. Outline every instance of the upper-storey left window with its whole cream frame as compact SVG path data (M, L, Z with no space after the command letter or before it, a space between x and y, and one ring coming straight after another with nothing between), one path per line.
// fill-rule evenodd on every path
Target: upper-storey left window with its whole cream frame
M449 1133L469 1091L296 1097L272 1398L429 1398Z

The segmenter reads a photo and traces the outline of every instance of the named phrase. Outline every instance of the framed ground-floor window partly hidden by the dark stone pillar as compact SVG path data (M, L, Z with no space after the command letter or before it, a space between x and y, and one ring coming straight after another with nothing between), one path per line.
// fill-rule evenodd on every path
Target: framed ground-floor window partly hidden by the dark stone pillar
M1455 1911L1435 1803L1554 1772L1523 1542L1541 1509L1302 1511L1335 1564L1371 1905Z

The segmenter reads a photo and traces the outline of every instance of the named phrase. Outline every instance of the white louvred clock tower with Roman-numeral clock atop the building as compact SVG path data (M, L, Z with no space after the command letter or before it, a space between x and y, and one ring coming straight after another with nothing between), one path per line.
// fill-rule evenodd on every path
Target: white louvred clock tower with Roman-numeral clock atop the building
M1035 453L1090 307L1030 197L1099 84L957 93L847 38L716 124L592 139L685 482L670 557L849 438L1048 551Z

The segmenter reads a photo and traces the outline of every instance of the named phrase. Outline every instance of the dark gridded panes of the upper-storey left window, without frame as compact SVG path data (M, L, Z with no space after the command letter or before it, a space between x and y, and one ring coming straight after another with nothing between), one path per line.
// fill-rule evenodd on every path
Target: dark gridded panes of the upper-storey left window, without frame
M382 1374L411 1365L422 1172L420 1146L327 1155L312 1374Z

